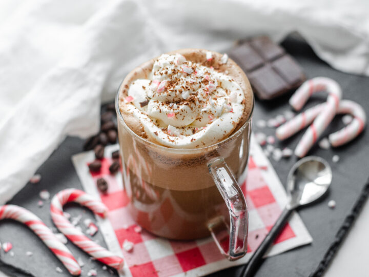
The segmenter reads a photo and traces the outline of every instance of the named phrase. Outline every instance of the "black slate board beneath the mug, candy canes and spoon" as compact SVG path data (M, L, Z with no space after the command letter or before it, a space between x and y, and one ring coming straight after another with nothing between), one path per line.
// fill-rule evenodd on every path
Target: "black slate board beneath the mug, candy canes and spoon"
M315 76L332 77L340 83L343 90L343 97L356 101L363 105L367 110L369 103L369 78L339 72L332 69L329 65L322 62L312 51L312 49L294 38L288 38L282 46L291 53L302 65L306 75L311 78ZM122 76L123 77L123 76ZM289 109L286 95L272 102L255 103L254 122L258 119L268 119L281 114L285 109ZM324 101L324 95L314 96L307 106L315 105ZM326 134L338 130L343 126L340 116L337 116ZM268 134L274 134L274 129L258 129L254 124L254 131L263 131ZM277 147L288 146L295 148L301 132L286 142L277 143ZM75 187L81 188L76 172L71 162L71 155L81 151L83 141L78 138L68 137L57 150L50 156L48 161L42 165L37 172L42 175L42 181L39 184L28 184L20 191L10 204L16 204L28 208L37 214L48 226L53 226L47 203L44 207L38 208L38 192L42 189L48 189L51 195L57 191ZM333 169L333 183L327 197L320 203L301 209L299 214L306 227L313 236L313 243L308 246L273 256L267 259L257 272L256 276L308 276L314 271L319 262L323 259L326 250L334 241L335 235L343 223L346 214L350 213L354 202L356 201L362 187L366 183L369 174L367 166L367 156L369 155L369 132L364 131L353 143L339 147L333 150L323 150L315 146L310 154L322 156L329 161ZM332 156L338 154L340 161L337 164L332 163ZM287 174L292 165L297 161L295 157L288 160L275 162L271 160L281 182L284 184ZM335 200L337 206L335 209L329 209L327 202ZM81 210L86 212L86 216L92 217L92 213L78 206L67 208L72 215L77 215ZM95 235L101 245L105 245L100 233ZM63 265L52 255L46 246L30 231L27 227L13 221L0 222L0 241L13 243L14 256L1 252L0 259L6 263L17 267L27 269L34 276L70 276ZM111 276L107 271L101 269L101 264L91 261L89 256L77 247L68 243L68 248L76 257L81 257L85 266L83 274L91 268L98 271L98 276ZM32 256L26 256L26 251L32 251ZM64 270L63 273L57 273L55 268L59 266ZM0 264L0 270L7 271L7 268ZM234 267L211 274L210 276L238 276L241 267ZM22 273L13 274L14 276L26 276Z

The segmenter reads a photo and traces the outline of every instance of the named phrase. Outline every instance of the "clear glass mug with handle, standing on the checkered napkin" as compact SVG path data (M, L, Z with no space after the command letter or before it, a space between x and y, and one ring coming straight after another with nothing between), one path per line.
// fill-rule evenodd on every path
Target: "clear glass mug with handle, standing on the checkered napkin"
M248 209L236 180L248 163L252 112L238 131L217 144L174 149L145 140L126 125L118 105L121 89L115 101L118 140L133 219L168 239L211 234L229 260L244 256Z

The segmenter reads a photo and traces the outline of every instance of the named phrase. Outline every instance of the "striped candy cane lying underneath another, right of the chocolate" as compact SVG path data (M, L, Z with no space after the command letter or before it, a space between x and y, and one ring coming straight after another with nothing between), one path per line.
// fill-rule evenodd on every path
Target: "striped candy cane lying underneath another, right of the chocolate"
M292 120L286 122L276 130L279 140L285 140L299 130L313 122L314 118L324 109L325 104L319 104L307 109L303 113L296 115ZM333 147L341 146L352 141L365 127L366 114L364 109L357 103L350 100L342 100L337 113L351 114L354 120L343 129L329 135L329 141Z

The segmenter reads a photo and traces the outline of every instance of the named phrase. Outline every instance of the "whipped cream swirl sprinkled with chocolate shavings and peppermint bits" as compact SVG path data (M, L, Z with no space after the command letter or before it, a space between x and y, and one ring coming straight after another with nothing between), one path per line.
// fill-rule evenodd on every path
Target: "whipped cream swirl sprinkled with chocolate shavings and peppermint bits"
M230 135L242 118L244 93L212 67L162 54L148 79L135 80L127 109L147 135L173 148L204 147Z

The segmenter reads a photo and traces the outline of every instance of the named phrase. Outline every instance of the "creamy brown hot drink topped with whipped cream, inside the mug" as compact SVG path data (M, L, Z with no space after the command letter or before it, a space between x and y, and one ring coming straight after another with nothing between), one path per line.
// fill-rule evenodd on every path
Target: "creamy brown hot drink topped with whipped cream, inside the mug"
M248 159L253 93L226 55L163 54L127 75L117 98L125 190L135 221L170 239L209 235L229 220L207 162L221 156L236 177Z

